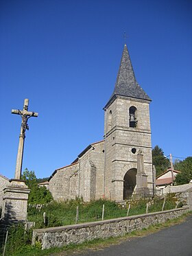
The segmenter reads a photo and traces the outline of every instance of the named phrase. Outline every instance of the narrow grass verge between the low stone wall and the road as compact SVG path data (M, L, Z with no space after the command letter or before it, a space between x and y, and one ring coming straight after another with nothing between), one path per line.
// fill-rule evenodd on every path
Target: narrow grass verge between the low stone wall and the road
M132 233L128 233L124 235L123 237L110 237L108 239L97 239L92 240L89 242L84 242L82 244L69 244L68 246L64 246L62 248L50 248L46 250L40 250L40 248L31 248L31 251L25 253L14 253L12 256L53 256L53 255L71 255L75 253L83 253L87 250L98 250L107 246L110 246L112 244L120 244L121 242L132 239L134 237L143 237L152 233L156 233L160 231L161 229L168 228L169 226L173 226L175 224L180 224L181 222L184 222L184 220L187 218L187 216L191 215L191 213L186 213L183 216L180 216L179 218L168 220L167 222L163 224L156 224L149 226L147 229L142 229L140 231L133 231Z

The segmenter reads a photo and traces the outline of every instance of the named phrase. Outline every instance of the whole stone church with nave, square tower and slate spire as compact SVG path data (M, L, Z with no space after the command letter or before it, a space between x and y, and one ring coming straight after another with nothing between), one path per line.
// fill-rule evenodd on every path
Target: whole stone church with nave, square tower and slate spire
M150 102L124 45L115 89L104 107L104 139L53 172L49 190L55 200L121 201L153 186Z

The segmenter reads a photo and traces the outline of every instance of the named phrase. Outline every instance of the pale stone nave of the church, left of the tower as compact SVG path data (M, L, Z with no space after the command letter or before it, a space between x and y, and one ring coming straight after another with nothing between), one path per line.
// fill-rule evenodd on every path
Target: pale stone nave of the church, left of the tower
M75 163L62 167L49 178L54 200L85 201L101 198L103 193L104 141L93 143L78 156Z

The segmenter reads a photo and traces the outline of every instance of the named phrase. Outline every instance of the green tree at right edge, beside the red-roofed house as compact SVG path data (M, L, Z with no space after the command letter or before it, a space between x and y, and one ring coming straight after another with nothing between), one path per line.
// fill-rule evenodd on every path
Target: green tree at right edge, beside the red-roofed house
M180 171L180 174L176 176L176 184L187 184L192 179L192 156L187 157L184 161L179 161L174 164L176 170Z

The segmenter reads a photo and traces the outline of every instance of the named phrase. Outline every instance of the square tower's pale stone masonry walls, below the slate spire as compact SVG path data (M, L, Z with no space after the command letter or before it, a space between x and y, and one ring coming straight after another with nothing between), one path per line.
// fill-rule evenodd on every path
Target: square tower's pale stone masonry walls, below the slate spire
M130 127L129 108L136 107L136 128ZM152 187L152 142L149 102L117 97L106 115L106 197L123 200L123 179L132 167L137 168L137 154L142 150L147 186ZM110 126L108 126L110 117ZM132 148L136 153L132 153ZM113 183L112 183L113 181Z

